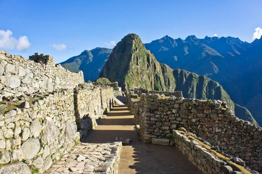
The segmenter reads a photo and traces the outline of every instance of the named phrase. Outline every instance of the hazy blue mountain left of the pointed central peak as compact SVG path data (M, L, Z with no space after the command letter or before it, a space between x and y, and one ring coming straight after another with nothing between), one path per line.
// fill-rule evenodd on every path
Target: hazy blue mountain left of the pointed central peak
M85 50L80 55L74 56L60 64L71 72L83 71L86 82L94 81L97 79L111 52L112 49L109 48Z

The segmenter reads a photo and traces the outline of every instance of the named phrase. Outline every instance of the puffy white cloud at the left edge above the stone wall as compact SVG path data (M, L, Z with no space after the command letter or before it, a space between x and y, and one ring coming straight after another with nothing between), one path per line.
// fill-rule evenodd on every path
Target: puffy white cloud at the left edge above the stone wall
M18 40L12 36L10 30L0 30L0 48L8 50L25 50L31 45L26 36L20 36Z

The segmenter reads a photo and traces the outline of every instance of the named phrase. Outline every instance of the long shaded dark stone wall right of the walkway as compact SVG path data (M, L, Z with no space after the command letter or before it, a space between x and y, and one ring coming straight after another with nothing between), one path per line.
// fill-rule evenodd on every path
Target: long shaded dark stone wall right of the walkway
M129 107L132 92L127 94ZM236 117L226 103L220 100L199 100L166 97L144 93L138 98L140 107L131 107L139 113L141 139L172 136L172 130L184 127L188 132L219 146L226 153L244 160L248 167L262 172L262 128ZM137 119L135 119L137 120Z

